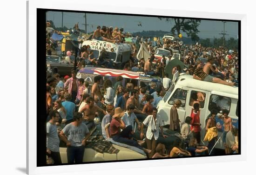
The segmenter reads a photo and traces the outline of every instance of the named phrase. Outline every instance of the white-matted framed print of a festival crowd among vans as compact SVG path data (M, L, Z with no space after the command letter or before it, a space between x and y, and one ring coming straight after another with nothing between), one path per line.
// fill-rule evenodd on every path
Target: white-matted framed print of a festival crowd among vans
M45 2L27 2L27 173L245 159L244 15Z

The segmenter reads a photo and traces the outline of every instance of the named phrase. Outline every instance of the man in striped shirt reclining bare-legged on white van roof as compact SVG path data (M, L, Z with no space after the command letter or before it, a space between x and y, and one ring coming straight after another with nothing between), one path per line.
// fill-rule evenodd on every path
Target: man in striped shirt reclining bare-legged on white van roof
M197 61L197 67L194 70L193 78L196 80L220 83L220 84L224 84L224 85L228 85L228 86L234 86L234 84L235 84L235 82L227 82L227 81L213 77L213 76L208 75L207 73L203 72L201 61Z

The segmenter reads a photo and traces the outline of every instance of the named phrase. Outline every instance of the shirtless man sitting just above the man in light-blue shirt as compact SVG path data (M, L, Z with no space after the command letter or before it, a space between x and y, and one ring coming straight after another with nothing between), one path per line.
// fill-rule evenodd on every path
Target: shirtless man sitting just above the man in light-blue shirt
M144 113L142 113L141 110L137 109L139 107L139 92L135 89L133 89L131 91L131 97L128 98L128 100L126 101L126 109L131 104L136 106L135 109L134 109L134 113L135 113L136 117L138 119L146 119L147 116L144 115Z

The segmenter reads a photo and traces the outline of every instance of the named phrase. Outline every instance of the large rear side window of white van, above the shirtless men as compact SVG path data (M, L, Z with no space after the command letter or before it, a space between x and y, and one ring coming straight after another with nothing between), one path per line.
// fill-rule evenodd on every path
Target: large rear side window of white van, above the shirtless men
M221 95L212 94L209 100L209 111L216 109L219 113L224 109L230 111L231 99L229 97L223 97Z

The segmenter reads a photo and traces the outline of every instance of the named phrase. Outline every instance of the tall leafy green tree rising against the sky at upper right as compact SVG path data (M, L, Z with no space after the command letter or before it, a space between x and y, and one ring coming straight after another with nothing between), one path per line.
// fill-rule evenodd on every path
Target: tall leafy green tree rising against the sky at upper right
M159 18L162 20L163 18ZM165 18L167 22L174 20L175 25L171 28L173 34L179 35L181 31L186 32L188 37L191 37L192 41L196 42L199 40L197 33L199 30L197 27L200 25L200 19L180 19L180 18ZM175 32L176 31L176 32Z

